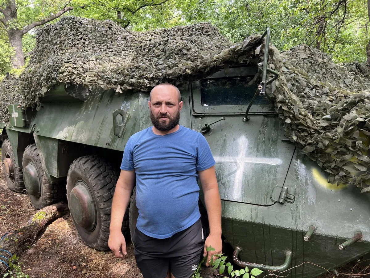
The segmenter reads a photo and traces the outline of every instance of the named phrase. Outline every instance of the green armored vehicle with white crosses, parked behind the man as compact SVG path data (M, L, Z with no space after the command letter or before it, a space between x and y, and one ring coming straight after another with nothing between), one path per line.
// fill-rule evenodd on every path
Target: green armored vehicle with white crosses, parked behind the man
M187 30L202 39L209 34L207 26L169 32ZM216 59L213 67L194 73L194 78L178 68L184 73L172 83L179 84L184 102L180 124L201 132L216 160L224 251L241 267L315 277L370 252L370 197L356 186L328 183L328 173L285 137L287 120L278 116L273 99L278 73L269 62L272 54L269 57L259 47L264 42L269 45L269 32L231 46L230 53L240 49L237 59L234 54L227 56L229 52L222 52L224 60L210 56L205 63ZM148 41L143 44L153 53ZM188 55L192 50L184 51ZM254 63L252 56L259 62ZM54 78L63 79L62 70L58 74L62 77ZM149 85L159 82L147 76L130 79L145 79ZM88 78L85 86L54 82L37 96L37 110L11 103L9 121L1 123L1 159L9 188L26 189L36 208L67 195L78 234L85 244L100 250L108 249L111 202L125 143L152 125L148 90L127 81L132 84L121 91L115 77L111 88L90 87ZM206 220L202 194L199 205ZM129 210L122 224L127 235L136 222L135 198Z

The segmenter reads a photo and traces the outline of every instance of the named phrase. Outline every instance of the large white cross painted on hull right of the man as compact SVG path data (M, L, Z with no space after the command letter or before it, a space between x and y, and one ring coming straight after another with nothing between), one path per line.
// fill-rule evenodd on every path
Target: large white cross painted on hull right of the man
M216 163L236 163L235 181L233 186L233 198L236 200L240 198L242 193L244 166L245 164L267 164L267 165L281 165L282 160L279 158L259 158L245 156L248 148L248 139L242 135L238 139L238 156L214 156Z

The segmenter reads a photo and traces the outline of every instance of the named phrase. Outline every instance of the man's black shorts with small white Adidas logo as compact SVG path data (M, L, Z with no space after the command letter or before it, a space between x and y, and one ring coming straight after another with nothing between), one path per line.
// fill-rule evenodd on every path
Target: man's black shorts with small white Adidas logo
M136 263L144 278L165 278L168 269L175 278L190 278L203 258L205 238L199 219L170 238L151 238L135 229Z

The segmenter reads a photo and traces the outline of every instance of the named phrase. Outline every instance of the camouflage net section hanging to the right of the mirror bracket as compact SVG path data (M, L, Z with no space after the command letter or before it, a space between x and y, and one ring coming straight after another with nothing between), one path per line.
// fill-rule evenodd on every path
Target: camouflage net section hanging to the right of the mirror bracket
M356 63L337 65L307 45L277 54L273 63L279 78L272 95L285 135L329 173L328 182L367 191L369 71Z

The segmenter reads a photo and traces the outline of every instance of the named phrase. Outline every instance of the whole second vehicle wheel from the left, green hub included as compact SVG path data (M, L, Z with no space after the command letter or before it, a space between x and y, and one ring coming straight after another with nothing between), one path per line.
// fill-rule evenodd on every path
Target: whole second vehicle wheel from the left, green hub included
M46 179L36 144L24 150L22 166L24 187L35 208L41 209L63 199L65 189Z

